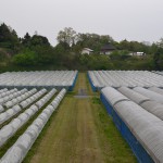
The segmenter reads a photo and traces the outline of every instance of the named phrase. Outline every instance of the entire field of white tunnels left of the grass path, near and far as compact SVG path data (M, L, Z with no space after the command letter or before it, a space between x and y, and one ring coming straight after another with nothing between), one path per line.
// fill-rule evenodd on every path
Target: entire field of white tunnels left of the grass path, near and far
M47 71L0 75L0 148L7 148L0 162L21 163L24 160L66 91L73 90L77 73ZM28 128L20 135L24 126ZM8 147L17 134L20 138Z

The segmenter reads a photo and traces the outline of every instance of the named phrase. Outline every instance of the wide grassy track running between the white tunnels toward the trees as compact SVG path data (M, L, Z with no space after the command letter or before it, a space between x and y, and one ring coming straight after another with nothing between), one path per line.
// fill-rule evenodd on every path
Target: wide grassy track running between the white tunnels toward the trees
M80 89L88 98L76 98ZM137 162L105 109L80 73L74 92L64 98L24 163Z

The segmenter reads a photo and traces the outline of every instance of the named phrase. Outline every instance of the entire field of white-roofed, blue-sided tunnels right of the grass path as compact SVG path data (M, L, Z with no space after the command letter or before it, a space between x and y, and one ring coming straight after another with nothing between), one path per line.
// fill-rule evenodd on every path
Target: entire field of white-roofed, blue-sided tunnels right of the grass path
M139 162L163 162L163 76L147 71L89 71L93 90ZM160 75L159 75L160 74Z

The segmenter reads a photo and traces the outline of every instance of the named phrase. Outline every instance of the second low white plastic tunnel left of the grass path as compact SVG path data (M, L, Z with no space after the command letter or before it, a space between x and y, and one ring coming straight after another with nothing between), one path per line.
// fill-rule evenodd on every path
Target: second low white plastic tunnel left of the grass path
M52 89L49 93L47 93L45 97L42 97L41 99L48 99L48 101L52 98L52 96L57 92L55 89ZM47 102L48 102L47 101ZM46 103L47 103L46 102ZM42 105L45 105L46 103L43 103ZM0 147L2 145L5 143L5 141L11 138L16 131L17 129L20 129L34 114L36 114L38 112L40 108L38 108L35 104L33 104L29 109L27 109L24 113L21 113L16 118L14 118L11 123L9 123L8 125L5 125L1 130L0 130ZM15 111L14 111L15 112ZM13 113L11 113L13 114ZM7 118L7 117L5 117ZM20 123L16 125L15 121L18 121ZM9 129L12 128L12 129Z

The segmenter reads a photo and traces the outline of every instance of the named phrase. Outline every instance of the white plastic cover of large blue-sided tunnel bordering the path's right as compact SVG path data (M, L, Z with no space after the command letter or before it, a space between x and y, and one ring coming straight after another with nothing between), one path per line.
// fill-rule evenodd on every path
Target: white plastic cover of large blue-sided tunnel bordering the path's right
M108 92L106 92L108 90ZM141 146L151 155L154 162L163 162L163 121L155 115L149 113L140 105L133 101L126 101L121 92L114 89L103 88L101 92L109 100L112 101L113 96L122 97L118 102L114 104L114 111L125 122L130 131L139 140ZM150 104L151 101L143 103Z

